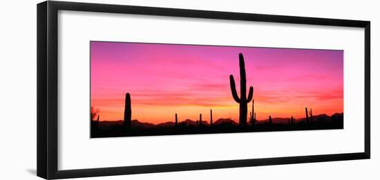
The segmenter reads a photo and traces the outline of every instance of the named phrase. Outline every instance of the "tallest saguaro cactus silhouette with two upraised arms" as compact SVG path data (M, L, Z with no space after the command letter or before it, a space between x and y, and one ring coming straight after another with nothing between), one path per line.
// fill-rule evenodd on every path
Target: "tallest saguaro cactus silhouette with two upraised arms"
M236 92L236 85L234 76L229 75L229 85L231 86L231 93L234 100L239 103L239 125L240 127L247 126L247 103L252 100L254 96L254 88L249 87L248 97L247 95L247 79L245 75L245 62L243 54L239 54L239 67L240 67L240 98L238 92Z

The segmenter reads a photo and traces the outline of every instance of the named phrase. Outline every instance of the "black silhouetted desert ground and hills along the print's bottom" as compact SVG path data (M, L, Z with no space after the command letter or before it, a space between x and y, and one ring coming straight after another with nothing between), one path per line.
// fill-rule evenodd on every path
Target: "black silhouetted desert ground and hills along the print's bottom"
M209 134L209 133L227 133L227 132L267 132L267 131L283 131L283 130L325 130L325 129L341 129L343 128L343 113L335 113L332 116L327 114L313 115L313 121L306 122L305 118L293 119L273 117L272 123L269 119L257 120L254 126L247 121L247 127L242 128L239 124L229 118L220 118L213 121L210 126L209 121L202 121L202 126L198 126L197 121L186 119L178 121L167 121L164 123L146 123L137 119L131 120L131 130L126 131L123 128L124 121L99 121L99 126L91 126L91 137L133 137L133 136L149 136L149 135L173 135L173 134ZM96 121L92 121L96 123Z

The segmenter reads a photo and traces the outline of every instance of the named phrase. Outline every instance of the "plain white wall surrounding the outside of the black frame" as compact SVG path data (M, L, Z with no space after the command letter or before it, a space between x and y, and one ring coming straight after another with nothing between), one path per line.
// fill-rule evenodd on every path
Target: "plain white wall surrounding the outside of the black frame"
M78 0L79 1L79 0ZM36 4L4 1L0 9L0 179L36 177ZM372 158L370 160L305 163L253 168L137 174L88 179L379 179L380 13L377 1L207 1L133 0L89 1L135 6L158 6L284 14L371 21ZM4 116L5 114L5 116ZM17 128L16 128L17 127Z

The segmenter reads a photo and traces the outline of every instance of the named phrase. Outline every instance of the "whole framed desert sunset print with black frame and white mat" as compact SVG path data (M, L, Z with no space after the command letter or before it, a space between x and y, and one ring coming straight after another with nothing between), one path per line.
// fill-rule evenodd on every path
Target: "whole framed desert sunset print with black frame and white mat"
M369 158L369 21L37 5L39 177Z

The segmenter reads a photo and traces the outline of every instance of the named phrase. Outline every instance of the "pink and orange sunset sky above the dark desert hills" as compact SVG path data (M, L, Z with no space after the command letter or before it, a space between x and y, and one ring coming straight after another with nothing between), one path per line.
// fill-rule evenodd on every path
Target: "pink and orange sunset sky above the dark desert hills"
M123 119L125 93L132 119L238 121L229 88L233 74L240 97L238 54L243 53L247 92L254 87L257 119L343 112L343 50L185 46L91 41L91 106L100 121ZM248 93L247 93L248 94ZM248 112L251 111L251 103ZM214 120L214 121L215 121Z

